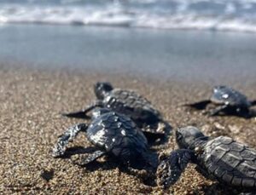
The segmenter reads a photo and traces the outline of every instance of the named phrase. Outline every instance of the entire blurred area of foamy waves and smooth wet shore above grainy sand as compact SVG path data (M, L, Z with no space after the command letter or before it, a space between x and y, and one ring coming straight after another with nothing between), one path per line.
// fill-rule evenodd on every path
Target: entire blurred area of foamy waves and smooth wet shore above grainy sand
M219 83L256 72L254 0L0 0L0 60Z

